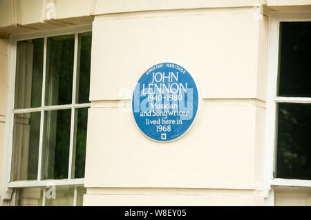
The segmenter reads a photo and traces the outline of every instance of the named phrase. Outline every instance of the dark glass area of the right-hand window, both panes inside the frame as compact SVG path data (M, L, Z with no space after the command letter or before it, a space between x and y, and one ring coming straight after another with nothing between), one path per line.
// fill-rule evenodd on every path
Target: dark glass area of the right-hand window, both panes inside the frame
M311 21L282 21L279 42L275 176L311 180Z

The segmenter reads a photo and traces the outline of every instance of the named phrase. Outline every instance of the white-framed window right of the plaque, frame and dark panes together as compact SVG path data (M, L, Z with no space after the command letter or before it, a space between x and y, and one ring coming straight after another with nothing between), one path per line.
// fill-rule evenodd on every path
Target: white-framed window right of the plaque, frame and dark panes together
M266 184L310 188L310 14L271 14L269 57Z

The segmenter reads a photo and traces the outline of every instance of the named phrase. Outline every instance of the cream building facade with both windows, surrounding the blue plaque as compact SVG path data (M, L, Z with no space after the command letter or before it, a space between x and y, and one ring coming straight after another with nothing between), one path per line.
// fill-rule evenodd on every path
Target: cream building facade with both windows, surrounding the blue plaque
M310 23L310 0L1 0L1 205L310 206ZM165 62L200 104L160 143L131 100Z

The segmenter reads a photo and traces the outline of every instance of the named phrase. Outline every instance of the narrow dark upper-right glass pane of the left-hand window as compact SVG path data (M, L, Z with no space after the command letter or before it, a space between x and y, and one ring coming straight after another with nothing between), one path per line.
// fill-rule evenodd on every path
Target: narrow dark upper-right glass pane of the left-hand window
M79 34L77 60L77 103L87 103L90 94L92 32Z

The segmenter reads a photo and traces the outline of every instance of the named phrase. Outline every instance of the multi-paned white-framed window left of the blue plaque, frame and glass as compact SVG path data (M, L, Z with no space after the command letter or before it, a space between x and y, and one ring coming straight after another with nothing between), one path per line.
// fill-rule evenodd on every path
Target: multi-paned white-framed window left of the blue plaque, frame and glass
M12 37L11 205L82 206L90 29Z

